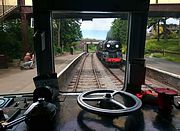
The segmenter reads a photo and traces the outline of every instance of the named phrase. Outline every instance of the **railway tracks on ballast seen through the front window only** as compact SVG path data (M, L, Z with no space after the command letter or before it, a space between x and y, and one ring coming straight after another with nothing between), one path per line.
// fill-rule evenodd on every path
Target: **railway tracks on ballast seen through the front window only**
M104 67L95 53L86 54L75 68L76 72L68 84L68 91L108 88L121 90L123 87L124 73L121 74L119 69Z

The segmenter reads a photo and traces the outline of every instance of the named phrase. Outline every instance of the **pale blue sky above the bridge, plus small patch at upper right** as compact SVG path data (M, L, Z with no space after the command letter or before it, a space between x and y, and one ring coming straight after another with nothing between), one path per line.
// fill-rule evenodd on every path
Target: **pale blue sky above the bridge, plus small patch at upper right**
M93 21L81 21L81 30L83 34L83 38L93 38L98 40L105 40L107 32L111 27L111 23L114 18L99 18L93 19ZM169 18L166 21L167 24L178 24L179 20L175 20L173 18Z

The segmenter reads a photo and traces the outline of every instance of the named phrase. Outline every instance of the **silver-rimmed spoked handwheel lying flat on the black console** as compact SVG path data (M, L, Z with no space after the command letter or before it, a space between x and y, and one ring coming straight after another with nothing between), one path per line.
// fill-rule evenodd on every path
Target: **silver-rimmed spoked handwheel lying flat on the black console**
M100 97L99 97L100 95ZM115 99L115 96L123 96L125 103L121 103ZM98 96L98 97L97 97ZM128 101L131 101L130 106L126 106ZM89 104L88 102L97 102L99 107ZM141 108L142 102L135 95L125 91L116 90L92 90L80 94L77 98L79 106L94 114L103 115L128 115ZM129 105L129 104L128 104Z

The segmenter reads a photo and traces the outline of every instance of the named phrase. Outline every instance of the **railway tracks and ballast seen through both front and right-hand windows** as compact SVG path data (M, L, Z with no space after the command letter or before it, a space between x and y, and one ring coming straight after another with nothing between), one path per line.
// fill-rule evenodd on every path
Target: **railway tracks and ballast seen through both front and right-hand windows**
M109 68L104 67L104 65L102 65L102 63L96 57L96 54L93 54L93 55L87 54L86 57L84 57L84 56L82 56L80 58L80 61L78 60L78 62L75 62L77 64L70 66L71 68L68 69L69 71L67 71L67 73L63 73L64 75L59 80L59 83L61 83L60 87L61 87L62 92L72 92L72 91L82 92L82 91L91 90L91 89L121 90L123 88L124 68L125 67L122 69L115 69L115 68L109 69ZM82 64L82 63L84 63L84 64ZM92 65L91 65L91 63L92 63ZM78 72L81 72L81 73L78 73ZM115 76L112 75L112 73ZM82 74L83 74L83 76L82 76ZM96 76L94 76L94 74ZM79 76L79 78L78 78L78 76ZM97 80L97 78L98 78L98 80ZM76 82L77 79L80 80L78 82L78 84ZM99 81L98 82L99 84L96 82L96 80ZM154 88L156 88L156 87L173 88L173 89L178 90L178 92L179 92L179 88L175 88L174 86L165 85L161 81L157 81L153 78L150 78L147 74L146 74L145 85L150 85L151 87L154 87ZM143 86L143 87L146 87L146 86Z

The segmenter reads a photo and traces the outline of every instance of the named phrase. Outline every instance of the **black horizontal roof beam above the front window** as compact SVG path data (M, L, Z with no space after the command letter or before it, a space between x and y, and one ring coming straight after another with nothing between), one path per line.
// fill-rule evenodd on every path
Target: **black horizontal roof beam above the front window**
M144 12L149 0L33 0L40 11Z

